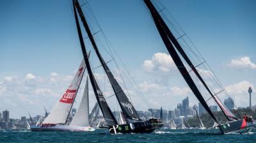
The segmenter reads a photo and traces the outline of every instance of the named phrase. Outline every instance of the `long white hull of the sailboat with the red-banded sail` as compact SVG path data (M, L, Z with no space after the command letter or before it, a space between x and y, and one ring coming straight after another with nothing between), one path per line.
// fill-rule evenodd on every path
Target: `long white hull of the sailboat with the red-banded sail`
M32 125L30 127L32 132L44 132L44 131L71 131L71 132L90 132L94 131L95 128L90 126L67 126L63 124L56 124L54 126L36 126Z

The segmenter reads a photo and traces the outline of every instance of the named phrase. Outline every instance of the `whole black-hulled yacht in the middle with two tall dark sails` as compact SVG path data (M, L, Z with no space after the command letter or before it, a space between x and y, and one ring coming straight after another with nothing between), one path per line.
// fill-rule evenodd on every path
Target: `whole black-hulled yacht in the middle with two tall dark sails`
M127 96L125 95L124 90L118 84L113 73L108 68L108 65L106 64L106 62L100 55L99 49L98 49L97 44L93 38L93 34L92 34L90 27L86 21L86 17L81 9L79 1L72 0L72 2L73 2L73 9L74 9L74 16L75 16L75 20L76 20L77 34L79 36L79 41L80 41L80 45L81 45L81 50L83 52L86 69L87 69L88 75L90 77L90 82L92 84L95 97L97 99L97 102L99 103L100 110L102 111L104 119L105 119L106 123L108 124L109 132L114 133L114 134L116 134L116 133L150 133L150 132L153 132L154 130L156 130L157 128L159 128L160 126L163 126L163 123L161 123L161 121L159 119L150 119L148 121L142 121L140 119L138 112L134 109L134 106L132 105L132 103L128 100ZM81 32L77 13L79 14L81 22L84 26L84 29L88 35L90 42L92 43L92 47L95 50L95 53L100 61L100 64L108 77L111 87L113 88L116 99L118 100L118 104L120 105L122 113L124 114L124 119L125 119L126 124L118 124L118 122L115 119L115 116L113 115L113 113L111 112L111 109L109 108L108 103L106 102L106 98L104 98L102 91L100 90L97 80L95 79L95 77L93 75L93 72L92 72L92 69L90 66L90 62L89 62L89 58L88 58L88 54L86 52L84 38L83 38L83 34ZM131 121L129 121L129 120L131 120Z

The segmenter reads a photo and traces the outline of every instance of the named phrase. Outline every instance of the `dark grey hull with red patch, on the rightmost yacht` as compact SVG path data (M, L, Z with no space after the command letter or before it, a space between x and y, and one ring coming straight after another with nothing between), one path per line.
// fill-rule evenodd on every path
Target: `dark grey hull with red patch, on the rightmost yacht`
M220 130L223 134L228 133L246 133L252 128L256 127L255 121L253 122L246 122L245 119L237 120L234 122L221 124Z

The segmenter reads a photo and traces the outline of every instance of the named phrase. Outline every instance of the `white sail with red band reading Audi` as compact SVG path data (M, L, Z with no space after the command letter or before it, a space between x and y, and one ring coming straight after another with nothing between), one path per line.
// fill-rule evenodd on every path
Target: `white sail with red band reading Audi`
M84 70L85 63L83 60L67 91L65 91L65 93L61 96L60 101L51 110L51 114L45 118L43 123L64 124L66 122L69 111L72 108L73 102L75 100L77 89L79 88L83 78Z

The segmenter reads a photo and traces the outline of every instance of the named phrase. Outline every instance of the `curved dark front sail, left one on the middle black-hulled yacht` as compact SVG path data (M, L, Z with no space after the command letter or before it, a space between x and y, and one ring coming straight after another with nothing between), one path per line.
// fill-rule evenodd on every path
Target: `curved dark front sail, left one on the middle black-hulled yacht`
M108 106L108 103L106 102L104 96L102 95L102 92L100 91L100 88L99 88L99 86L98 86L98 84L95 80L92 69L90 67L88 55L87 55L85 45L84 45L84 41L83 41L83 35L82 35L82 32L81 32L79 20L78 20L78 17L77 17L77 11L76 11L76 6L75 6L76 2L77 2L76 0L73 0L73 8L74 8L74 14L75 14L75 19L76 19L77 33L78 33L78 36L79 36L81 49L83 51L83 56L84 56L84 61L85 61L85 64L86 64L87 72L88 72L88 75L90 77L90 81L92 83L94 94L96 96L97 102L99 103L99 107L102 111L102 114L105 118L105 121L109 126L113 126L113 125L118 124L118 123L117 123L115 117L113 116L113 114L112 114L112 112L111 112L111 110Z

